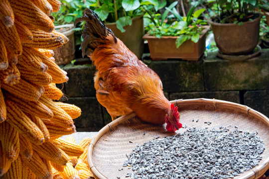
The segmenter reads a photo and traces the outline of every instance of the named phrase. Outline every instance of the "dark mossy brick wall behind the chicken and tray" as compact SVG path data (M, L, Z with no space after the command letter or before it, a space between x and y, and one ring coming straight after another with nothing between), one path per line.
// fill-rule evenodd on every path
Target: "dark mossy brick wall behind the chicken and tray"
M144 60L163 83L169 100L187 98L216 98L247 105L269 116L269 49L250 60L227 61L209 54L199 61ZM95 97L90 64L63 67L69 81L58 85L68 103L82 109L75 120L77 131L98 131L111 121L110 115Z

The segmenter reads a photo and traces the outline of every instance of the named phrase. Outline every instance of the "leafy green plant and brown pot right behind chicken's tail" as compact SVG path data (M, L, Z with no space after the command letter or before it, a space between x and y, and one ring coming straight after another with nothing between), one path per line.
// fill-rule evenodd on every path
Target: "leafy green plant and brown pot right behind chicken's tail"
M156 0L91 0L90 8L113 33L141 59L144 35L142 6Z

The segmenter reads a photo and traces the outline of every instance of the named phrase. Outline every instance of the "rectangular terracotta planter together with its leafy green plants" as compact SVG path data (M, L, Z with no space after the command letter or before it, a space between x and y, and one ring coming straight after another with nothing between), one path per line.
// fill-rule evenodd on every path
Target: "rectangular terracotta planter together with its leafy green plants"
M199 4L195 2L183 17L175 9L176 4L174 1L165 7L162 14L146 10L151 23L145 27L148 32L143 39L148 42L152 60L199 60L205 51L209 26L204 26L207 22L198 18L205 8L194 11Z

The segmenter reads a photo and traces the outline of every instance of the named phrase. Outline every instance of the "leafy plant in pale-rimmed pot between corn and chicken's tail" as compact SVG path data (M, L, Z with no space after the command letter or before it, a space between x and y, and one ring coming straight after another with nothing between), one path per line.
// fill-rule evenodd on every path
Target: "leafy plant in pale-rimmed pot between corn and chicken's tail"
M81 44L81 33L79 32L82 23L77 28L74 27L76 18L83 15L84 9L88 3L81 0L61 0L61 8L58 12L52 12L55 18L55 30L63 33L68 37L69 41L54 50L55 63L57 65L65 65L75 59L76 46Z

